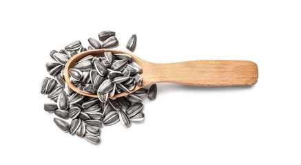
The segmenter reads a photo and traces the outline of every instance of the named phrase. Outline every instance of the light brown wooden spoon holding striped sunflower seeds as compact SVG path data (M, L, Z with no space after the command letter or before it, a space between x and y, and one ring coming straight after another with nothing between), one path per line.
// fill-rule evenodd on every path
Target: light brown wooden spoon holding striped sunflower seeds
M80 91L70 82L68 73L81 58L92 56L104 56L103 52L112 54L122 53L132 56L133 61L141 66L143 83L136 86L130 93L152 83L178 83L195 86L236 86L254 85L258 79L258 67L251 61L186 61L180 63L149 63L133 54L119 50L89 50L76 54L65 65L65 80L68 86L75 92L97 98L96 94L86 94ZM113 98L126 96L129 93L116 94Z

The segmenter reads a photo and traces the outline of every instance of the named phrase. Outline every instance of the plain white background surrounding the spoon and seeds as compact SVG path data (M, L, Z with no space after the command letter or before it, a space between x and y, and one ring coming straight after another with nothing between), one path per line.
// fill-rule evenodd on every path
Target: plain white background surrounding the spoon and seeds
M301 164L300 1L1 1L0 164ZM94 146L39 92L51 50L114 30L146 61L248 60L253 87L158 84L145 122Z

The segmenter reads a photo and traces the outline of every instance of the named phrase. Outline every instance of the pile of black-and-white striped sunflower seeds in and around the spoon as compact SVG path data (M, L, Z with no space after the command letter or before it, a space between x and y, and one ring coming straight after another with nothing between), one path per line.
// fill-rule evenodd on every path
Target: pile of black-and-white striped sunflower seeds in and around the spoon
M147 95L149 100L154 100L157 92L154 84L149 89L141 88L121 98L107 98L115 93L134 89L142 83L142 69L132 61L132 57L111 52L105 52L105 57L86 56L74 69L69 70L70 80L74 85L84 92L97 93L99 99L72 91L65 83L63 72L65 64L72 56L87 50L118 46L115 32L100 32L98 38L103 43L96 39L88 39L90 46L87 49L82 46L81 41L74 41L59 52L52 50L50 57L54 61L47 63L46 69L54 78L45 77L41 84L41 94L56 102L44 104L45 111L59 117L54 118L56 126L71 135L84 137L92 144L100 144L103 125L108 126L120 121L123 126L130 126L131 122L144 120L140 96ZM129 39L126 47L130 51L135 50L135 34ZM68 119L71 119L71 123Z

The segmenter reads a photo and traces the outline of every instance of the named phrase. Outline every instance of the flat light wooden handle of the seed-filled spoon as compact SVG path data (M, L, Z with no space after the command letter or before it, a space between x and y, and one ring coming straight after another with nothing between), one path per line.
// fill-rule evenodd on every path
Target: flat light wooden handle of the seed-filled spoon
M187 61L149 63L144 73L149 83L178 83L196 86L254 85L258 67L251 61Z

